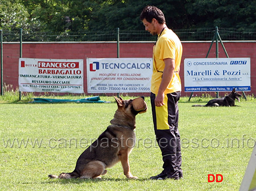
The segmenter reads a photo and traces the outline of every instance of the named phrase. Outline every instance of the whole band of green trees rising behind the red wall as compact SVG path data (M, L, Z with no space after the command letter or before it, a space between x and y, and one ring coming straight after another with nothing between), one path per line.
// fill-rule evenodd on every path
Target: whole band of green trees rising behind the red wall
M0 27L30 31L144 29L144 6L159 7L169 28L255 28L255 0L1 0Z

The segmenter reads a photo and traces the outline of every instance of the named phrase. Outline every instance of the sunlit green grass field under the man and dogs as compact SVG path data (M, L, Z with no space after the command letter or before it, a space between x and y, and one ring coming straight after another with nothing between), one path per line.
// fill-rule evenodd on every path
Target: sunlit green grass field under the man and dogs
M125 98L125 97L124 97ZM67 99L65 97L65 99ZM254 99L241 107L194 108L179 103L184 179L149 180L162 171L148 112L137 116L137 143L130 155L127 180L120 163L102 180L51 180L49 174L72 172L82 151L110 124L117 105L31 104L0 100L1 190L239 190L255 137ZM203 103L202 103L203 104ZM208 182L221 174L222 182Z

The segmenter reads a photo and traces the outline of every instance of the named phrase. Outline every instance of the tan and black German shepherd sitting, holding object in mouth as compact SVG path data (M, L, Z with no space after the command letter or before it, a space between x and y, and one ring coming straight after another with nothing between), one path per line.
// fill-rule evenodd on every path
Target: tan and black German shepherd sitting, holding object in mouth
M129 154L135 145L135 116L147 111L144 96L136 99L123 100L115 97L117 111L110 121L108 128L92 143L76 162L76 168L71 173L61 173L59 176L48 175L59 179L101 179L110 168L119 161L122 163L123 173L128 179L138 179L131 175Z

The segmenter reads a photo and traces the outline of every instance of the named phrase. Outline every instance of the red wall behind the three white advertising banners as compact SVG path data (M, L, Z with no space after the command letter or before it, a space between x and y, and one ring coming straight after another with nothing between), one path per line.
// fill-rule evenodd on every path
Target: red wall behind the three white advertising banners
M205 58L211 42L182 42L183 58L181 61L180 77L184 85L184 58ZM152 42L128 42L120 43L119 55L121 58L150 58L152 57ZM224 41L224 46L229 57L251 58L251 91L246 95L256 94L256 41ZM86 82L86 58L116 58L116 43L23 43L23 58L46 58L46 59L84 59L84 92L87 94ZM3 82L18 87L18 61L19 43L3 43ZM226 55L219 43L220 58ZM216 57L215 43L210 50L208 58ZM182 96L191 93L181 92ZM224 93L223 93L224 94ZM201 93L197 93L201 95Z

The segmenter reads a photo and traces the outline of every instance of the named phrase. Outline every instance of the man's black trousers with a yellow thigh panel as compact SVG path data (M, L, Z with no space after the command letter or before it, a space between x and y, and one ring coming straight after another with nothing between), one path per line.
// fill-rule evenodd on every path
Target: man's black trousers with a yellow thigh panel
M167 177L182 177L181 145L178 130L180 92L167 94L162 107L155 106L156 95L151 92L152 117L156 141L162 151L163 172Z

